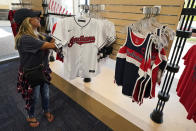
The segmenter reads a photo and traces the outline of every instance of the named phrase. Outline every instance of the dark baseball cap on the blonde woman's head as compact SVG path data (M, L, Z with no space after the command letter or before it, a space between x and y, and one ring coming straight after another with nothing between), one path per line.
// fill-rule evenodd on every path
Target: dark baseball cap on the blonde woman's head
M14 14L14 21L16 24L21 25L23 20L27 17L40 17L41 11L34 11L32 9L21 8L16 10Z

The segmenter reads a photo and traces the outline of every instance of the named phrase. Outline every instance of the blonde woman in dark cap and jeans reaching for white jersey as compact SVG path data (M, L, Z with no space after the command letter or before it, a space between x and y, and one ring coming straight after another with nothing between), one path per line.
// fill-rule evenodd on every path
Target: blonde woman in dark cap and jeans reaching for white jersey
M15 37L15 48L20 56L20 68L17 88L26 101L28 112L27 121L31 127L39 126L35 117L35 104L41 94L42 108L49 122L54 120L54 116L49 112L49 84L32 86L25 76L25 68L33 68L43 65L44 74L50 80L51 70L48 66L48 49L56 49L54 40L46 35L40 34L37 29L40 25L40 12L30 9L19 9L14 15L15 22L19 25L18 33Z

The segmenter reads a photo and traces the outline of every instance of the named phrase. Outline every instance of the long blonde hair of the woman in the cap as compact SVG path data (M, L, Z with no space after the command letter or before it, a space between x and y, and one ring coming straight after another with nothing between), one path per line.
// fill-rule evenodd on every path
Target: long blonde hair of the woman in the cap
M23 20L22 24L20 25L19 31L15 37L15 49L18 49L18 45L19 42L18 40L23 36L23 35L30 35L36 39L38 39L38 35L40 37L42 37L42 39L45 39L45 37L43 35L41 35L40 33L38 35L35 34L34 29L30 23L30 19L31 17L27 17L25 18L25 20Z

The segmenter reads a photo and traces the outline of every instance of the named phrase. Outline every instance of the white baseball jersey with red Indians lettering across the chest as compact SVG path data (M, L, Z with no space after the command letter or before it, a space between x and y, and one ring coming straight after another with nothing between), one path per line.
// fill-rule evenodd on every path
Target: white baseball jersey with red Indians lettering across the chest
M86 18L78 22L75 17L57 22L53 36L65 43L65 78L92 78L99 73L98 50L115 40L114 24L107 20Z

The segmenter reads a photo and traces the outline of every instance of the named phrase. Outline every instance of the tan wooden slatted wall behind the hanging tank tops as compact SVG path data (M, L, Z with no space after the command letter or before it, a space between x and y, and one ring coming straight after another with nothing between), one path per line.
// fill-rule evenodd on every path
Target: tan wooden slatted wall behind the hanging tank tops
M104 10L93 10L93 12L95 11L115 24L117 41L114 43L114 51L110 56L115 59L120 48L119 45L123 45L125 42L127 26L144 18L141 8L144 6L161 6L161 12L156 17L157 21L176 30L184 0L91 0L90 4L105 5ZM122 42L123 40L124 42ZM172 42L168 45L167 56Z

